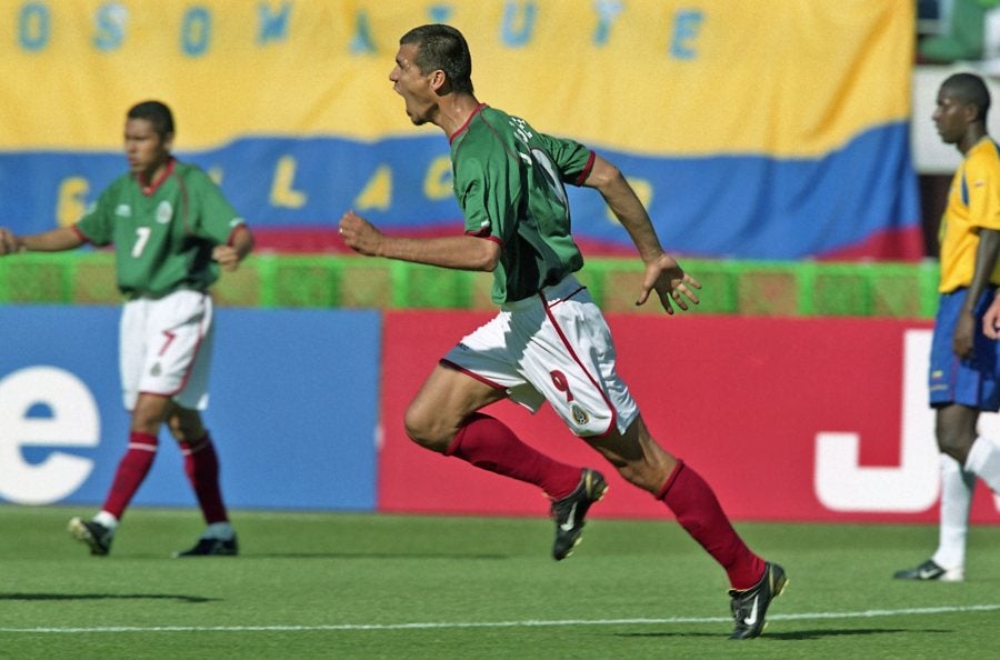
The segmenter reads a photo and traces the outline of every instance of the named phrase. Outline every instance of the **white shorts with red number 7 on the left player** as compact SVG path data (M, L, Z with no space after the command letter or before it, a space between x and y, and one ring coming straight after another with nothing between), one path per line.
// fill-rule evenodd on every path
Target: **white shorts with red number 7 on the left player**
M189 409L208 408L212 299L180 290L124 303L120 326L121 388L127 410L139 392L170 397Z

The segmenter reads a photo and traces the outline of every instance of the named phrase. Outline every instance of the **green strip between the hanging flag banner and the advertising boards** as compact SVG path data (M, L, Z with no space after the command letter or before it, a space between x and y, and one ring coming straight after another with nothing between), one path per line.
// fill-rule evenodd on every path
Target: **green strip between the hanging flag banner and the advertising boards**
M704 313L932 318L938 264L683 259L702 283ZM606 311L660 313L633 304L638 259L590 259L580 279ZM220 304L306 308L491 309L489 273L353 256L254 254L216 287ZM109 252L0 259L0 303L117 303Z

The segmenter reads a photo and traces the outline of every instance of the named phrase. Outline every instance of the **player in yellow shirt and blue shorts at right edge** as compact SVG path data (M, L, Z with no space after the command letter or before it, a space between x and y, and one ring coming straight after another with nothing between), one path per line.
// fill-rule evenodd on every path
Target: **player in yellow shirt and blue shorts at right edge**
M941 450L938 549L901 580L964 579L969 508L977 478L1000 492L1000 446L979 436L983 410L1000 410L1000 150L987 133L990 92L972 73L938 90L934 126L963 156L941 218L940 301L930 356L930 404ZM991 306L992 303L992 306Z

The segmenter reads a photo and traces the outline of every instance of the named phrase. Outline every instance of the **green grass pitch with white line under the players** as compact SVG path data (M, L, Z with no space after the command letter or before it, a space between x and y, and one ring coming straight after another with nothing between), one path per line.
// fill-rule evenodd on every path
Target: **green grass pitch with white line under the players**
M790 578L764 637L731 630L723 572L672 521L238 511L238 558L170 559L193 511L133 509L112 554L70 508L0 507L0 658L997 658L1000 528L967 581L890 576L931 526L739 524Z

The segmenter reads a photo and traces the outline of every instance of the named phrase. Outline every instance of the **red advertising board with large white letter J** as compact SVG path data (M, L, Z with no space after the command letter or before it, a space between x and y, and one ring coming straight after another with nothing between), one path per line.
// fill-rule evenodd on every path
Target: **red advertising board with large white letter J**
M412 443L406 407L438 358L489 318L384 317L378 508L396 512L544 514L532 486ZM611 316L619 371L654 437L714 488L734 520L934 521L938 453L927 406L930 324L882 319ZM600 469L596 517L669 517L544 407L489 412L526 442ZM1000 438L998 416L983 431ZM1000 522L977 489L973 522Z

